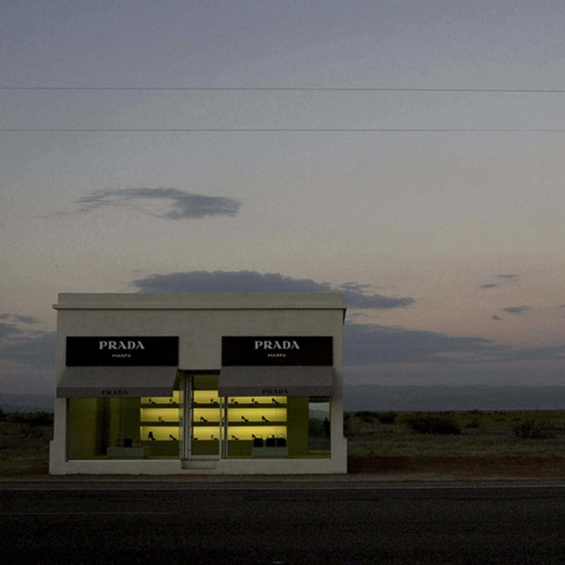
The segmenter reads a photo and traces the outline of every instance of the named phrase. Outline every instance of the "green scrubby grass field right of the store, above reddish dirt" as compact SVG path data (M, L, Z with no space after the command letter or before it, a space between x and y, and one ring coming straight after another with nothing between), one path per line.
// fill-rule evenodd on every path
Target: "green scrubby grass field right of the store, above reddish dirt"
M565 412L450 412L397 414L394 423L381 423L384 414L345 415L349 455L354 457L565 456ZM393 415L391 415L393 416ZM408 423L423 416L450 420L458 434L424 434ZM392 419L392 418L391 418ZM521 437L520 437L521 436Z

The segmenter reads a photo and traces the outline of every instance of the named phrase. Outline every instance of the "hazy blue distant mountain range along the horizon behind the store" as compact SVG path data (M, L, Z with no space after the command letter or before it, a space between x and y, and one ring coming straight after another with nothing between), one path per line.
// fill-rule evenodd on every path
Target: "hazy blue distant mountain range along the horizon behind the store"
M0 393L5 412L53 412L49 394ZM565 410L565 386L345 385L347 412L437 410Z

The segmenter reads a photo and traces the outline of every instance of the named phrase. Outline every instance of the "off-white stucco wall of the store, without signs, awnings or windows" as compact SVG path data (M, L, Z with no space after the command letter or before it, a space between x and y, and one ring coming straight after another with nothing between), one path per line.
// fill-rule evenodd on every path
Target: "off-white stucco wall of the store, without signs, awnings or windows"
M331 458L219 460L66 460L67 401L55 399L49 472L128 474L303 474L347 472L343 435L341 294L59 294L56 384L65 369L67 336L179 336L179 370L221 369L223 336L332 336L334 396Z

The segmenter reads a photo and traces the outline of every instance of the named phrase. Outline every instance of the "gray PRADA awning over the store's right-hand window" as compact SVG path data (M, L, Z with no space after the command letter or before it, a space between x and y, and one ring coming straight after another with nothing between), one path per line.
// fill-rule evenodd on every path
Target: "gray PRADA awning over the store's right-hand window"
M332 396L332 367L222 367L222 396Z

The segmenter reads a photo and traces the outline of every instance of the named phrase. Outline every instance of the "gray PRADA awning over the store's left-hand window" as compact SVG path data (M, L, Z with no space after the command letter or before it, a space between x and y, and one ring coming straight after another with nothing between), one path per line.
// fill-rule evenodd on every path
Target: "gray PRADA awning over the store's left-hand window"
M172 396L176 367L67 367L57 398Z

